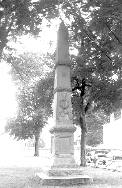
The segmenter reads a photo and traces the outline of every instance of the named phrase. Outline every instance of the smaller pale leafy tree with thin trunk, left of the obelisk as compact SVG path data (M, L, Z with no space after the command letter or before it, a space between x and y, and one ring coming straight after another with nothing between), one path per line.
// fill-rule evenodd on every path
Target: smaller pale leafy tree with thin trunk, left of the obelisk
M24 53L8 58L17 70L12 67L10 73L17 86L18 112L8 120L6 131L17 140L34 137L34 155L38 156L40 132L52 114L52 61L49 54Z

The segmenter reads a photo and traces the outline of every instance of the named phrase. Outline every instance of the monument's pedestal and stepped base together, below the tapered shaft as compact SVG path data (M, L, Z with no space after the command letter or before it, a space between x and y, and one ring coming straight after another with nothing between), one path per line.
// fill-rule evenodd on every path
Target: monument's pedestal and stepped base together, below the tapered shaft
M53 160L51 167L36 174L36 181L41 186L73 186L80 184L90 184L92 178L84 175L83 170L74 160L73 134L74 129L61 129L62 132L53 129ZM55 146L55 147L54 147Z

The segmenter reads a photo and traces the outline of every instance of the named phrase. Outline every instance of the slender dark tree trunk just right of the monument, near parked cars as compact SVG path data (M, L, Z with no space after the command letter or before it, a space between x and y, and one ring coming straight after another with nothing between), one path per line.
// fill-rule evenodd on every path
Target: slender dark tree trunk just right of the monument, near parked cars
M86 121L85 121L85 113L83 113L80 117L80 126L81 126L81 156L80 156L80 166L86 166Z

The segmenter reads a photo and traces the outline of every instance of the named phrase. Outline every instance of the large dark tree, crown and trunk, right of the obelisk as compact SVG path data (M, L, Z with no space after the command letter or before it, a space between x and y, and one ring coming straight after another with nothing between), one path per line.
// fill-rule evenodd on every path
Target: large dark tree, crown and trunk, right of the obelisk
M90 5L89 2L91 3ZM78 4L80 1L77 1L74 5L69 2L67 2L67 5L65 4L68 6L67 15L73 15L71 24L72 44L78 49L78 55L72 56L73 103L77 108L75 105L73 106L74 117L78 118L82 129L81 165L83 166L85 166L86 114L88 109L94 104L94 110L103 109L109 114L116 108L121 108L120 101L122 98L122 53L118 50L121 49L121 42L118 43L120 39L114 33L117 25L119 25L120 30L121 22L118 21L115 24L111 19L110 28L108 28L108 24L107 26L103 24L103 21L105 21L104 16L110 21L111 15L110 13L109 15L103 13L106 7L110 7L106 6L106 4L110 5L110 3L114 4L114 2L89 2L81 5ZM97 5L94 5L93 2L97 3ZM97 15L96 17L90 14L90 9L94 16ZM91 21L87 21L82 16L83 12L81 11L89 13ZM103 13L102 15L101 12ZM98 20L95 18L98 18ZM112 37L115 38L114 42ZM113 79L115 75L117 76L116 80Z

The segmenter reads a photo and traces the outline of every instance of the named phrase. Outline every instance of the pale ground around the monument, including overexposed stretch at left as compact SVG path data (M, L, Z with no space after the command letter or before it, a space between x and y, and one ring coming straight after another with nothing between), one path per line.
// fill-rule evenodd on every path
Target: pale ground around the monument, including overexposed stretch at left
M33 157L33 148L27 150L18 145L10 147L9 143L2 150L3 142L0 143L0 188L40 188L33 177L50 164L49 150L41 150L40 157ZM83 172L94 181L91 185L75 188L122 188L122 172L94 167L83 168Z

